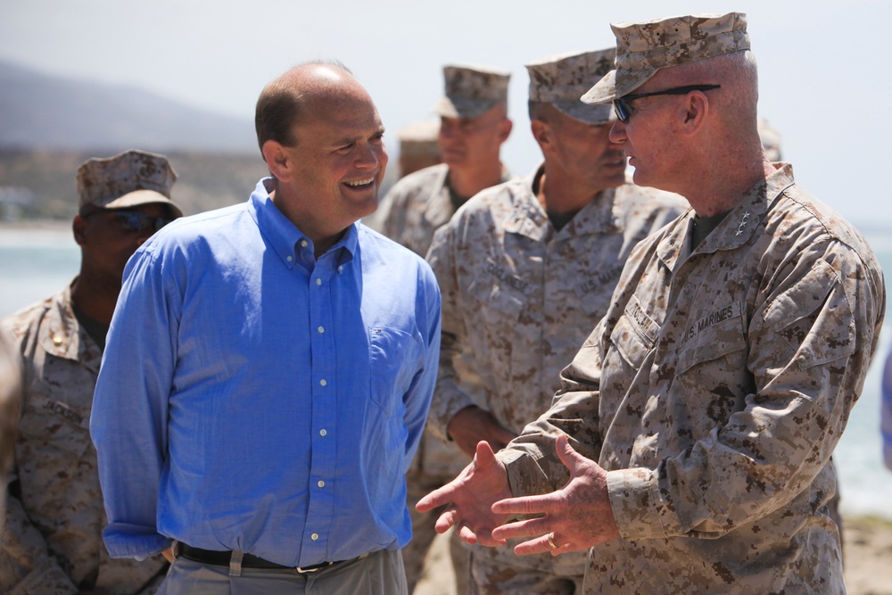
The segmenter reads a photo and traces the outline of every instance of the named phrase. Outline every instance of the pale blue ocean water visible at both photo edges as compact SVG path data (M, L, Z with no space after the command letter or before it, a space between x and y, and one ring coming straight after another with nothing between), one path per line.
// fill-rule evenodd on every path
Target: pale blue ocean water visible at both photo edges
M892 278L892 237L865 234ZM80 252L67 227L19 229L0 227L0 317L59 291L78 272ZM834 459L847 516L872 515L892 520L892 471L882 462L880 380L890 350L892 320L880 337L860 401L855 405Z

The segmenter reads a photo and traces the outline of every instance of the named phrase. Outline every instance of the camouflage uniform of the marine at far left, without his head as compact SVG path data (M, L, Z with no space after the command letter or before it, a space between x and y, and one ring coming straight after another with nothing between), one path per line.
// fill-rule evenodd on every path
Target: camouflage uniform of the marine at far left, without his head
M3 332L24 366L16 472L0 551L3 592L154 592L163 558L113 560L103 545L107 521L89 434L102 352L75 318L70 285L4 318Z

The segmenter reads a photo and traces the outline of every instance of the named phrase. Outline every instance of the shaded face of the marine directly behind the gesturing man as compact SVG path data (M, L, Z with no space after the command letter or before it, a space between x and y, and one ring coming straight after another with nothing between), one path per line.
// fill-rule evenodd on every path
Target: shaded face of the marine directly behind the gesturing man
M623 145L610 140L611 124L587 124L554 110L549 116L554 159L596 191L625 182Z

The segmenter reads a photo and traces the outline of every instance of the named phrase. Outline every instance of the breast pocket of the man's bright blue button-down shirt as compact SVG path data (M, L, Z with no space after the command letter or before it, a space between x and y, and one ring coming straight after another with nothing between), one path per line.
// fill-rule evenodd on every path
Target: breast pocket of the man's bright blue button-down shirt
M425 361L425 343L419 333L391 326L368 328L371 397L387 417L402 417L403 395Z

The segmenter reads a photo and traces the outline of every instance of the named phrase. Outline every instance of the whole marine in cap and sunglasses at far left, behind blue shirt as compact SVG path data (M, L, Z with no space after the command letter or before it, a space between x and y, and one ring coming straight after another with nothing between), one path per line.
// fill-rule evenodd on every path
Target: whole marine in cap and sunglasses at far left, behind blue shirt
M0 321L21 358L23 396L5 508L0 585L12 592L153 593L167 562L112 559L90 409L124 266L183 213L163 155L127 151L78 168L71 222L80 272L61 292ZM127 349L127 346L122 346Z

